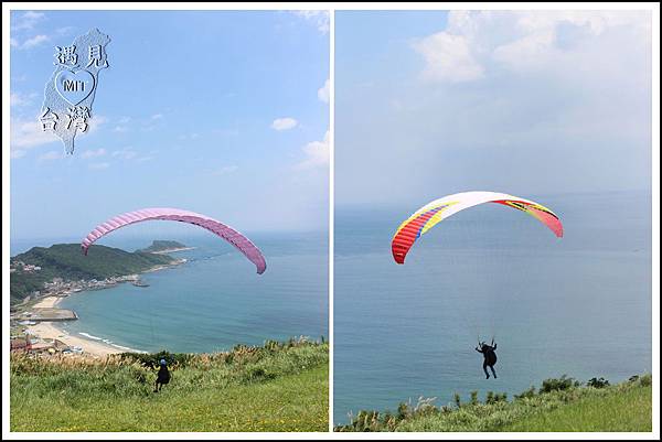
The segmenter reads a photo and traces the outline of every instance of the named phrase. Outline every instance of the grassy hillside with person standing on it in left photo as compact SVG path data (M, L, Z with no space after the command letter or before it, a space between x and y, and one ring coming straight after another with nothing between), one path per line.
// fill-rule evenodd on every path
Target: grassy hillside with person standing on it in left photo
M11 431L328 431L327 344L169 355L172 380L154 394L160 357L12 357Z

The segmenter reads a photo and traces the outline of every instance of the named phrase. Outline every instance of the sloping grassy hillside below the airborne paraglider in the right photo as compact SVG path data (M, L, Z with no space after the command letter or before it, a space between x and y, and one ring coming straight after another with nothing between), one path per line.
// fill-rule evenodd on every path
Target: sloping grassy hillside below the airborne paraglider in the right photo
M572 378L547 379L508 401L488 392L469 403L435 407L420 401L397 412L361 411L335 431L652 431L650 375L609 386L599 380L580 386Z

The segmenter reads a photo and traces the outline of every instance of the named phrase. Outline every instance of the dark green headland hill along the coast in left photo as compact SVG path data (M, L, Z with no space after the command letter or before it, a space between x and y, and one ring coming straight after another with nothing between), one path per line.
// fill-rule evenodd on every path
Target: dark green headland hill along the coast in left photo
M78 244L56 244L51 247L33 247L24 254L11 258L10 273L11 303L22 301L35 290L42 290L44 282L53 278L65 281L81 279L105 279L146 271L154 266L172 262L167 255L142 251L129 252L121 249L95 245L87 256L81 252ZM41 267L36 271L25 271L19 262Z

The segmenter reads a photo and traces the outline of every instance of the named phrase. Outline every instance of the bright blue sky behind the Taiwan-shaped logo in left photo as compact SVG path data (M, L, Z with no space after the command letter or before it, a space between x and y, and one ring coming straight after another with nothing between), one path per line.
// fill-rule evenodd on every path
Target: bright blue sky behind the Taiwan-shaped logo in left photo
M38 121L43 89L55 46L94 28L109 67L65 155ZM327 230L327 13L12 11L10 35L12 239L83 237L142 207Z

